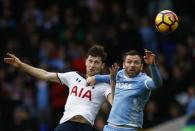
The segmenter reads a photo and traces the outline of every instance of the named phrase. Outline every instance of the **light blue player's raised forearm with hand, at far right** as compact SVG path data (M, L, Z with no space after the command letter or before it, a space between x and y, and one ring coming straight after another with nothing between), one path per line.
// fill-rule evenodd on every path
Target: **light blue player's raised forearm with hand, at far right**
M155 54L151 51L145 49L145 56L144 56L145 63L149 66L152 79L156 87L162 86L162 77L160 71L155 63Z

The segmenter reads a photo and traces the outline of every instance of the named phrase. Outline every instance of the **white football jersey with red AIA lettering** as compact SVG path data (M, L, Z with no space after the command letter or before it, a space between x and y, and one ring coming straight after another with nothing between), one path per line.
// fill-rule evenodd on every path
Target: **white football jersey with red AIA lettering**
M60 123L66 122L76 115L83 116L91 125L100 106L111 93L111 87L107 83L98 83L94 86L86 86L86 79L77 72L57 73L62 84L69 88L69 95Z

